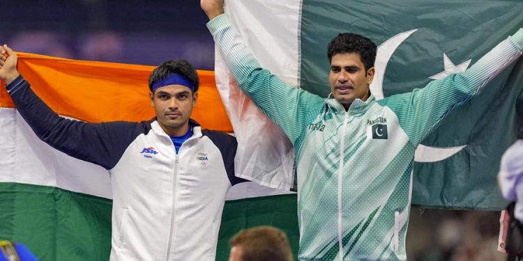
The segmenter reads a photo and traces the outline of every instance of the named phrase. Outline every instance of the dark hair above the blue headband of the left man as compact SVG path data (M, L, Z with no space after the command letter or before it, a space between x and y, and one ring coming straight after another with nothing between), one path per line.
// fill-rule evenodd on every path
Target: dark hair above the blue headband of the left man
M151 72L151 76L149 76L149 90L151 90L151 93L153 92L153 84L156 81L163 80L172 73L181 74L183 77L187 78L195 86L194 93L198 91L199 79L195 68L193 68L188 61L179 59L165 61L158 65L157 68L154 68L153 72Z

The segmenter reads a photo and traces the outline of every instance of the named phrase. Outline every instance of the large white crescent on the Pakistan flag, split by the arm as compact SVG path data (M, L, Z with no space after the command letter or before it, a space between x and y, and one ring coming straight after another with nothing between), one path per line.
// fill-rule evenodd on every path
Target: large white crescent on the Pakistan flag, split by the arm
M379 45L376 62L374 62L374 80L370 84L370 93L376 97L376 100L381 100L384 98L383 94L383 80L385 76L385 71L387 69L388 61L391 60L391 56L396 51L404 40L409 38L409 36L418 31L414 29L411 31L406 31L399 33L392 38L386 40L384 43ZM453 148L437 148L429 147L425 145L418 145L416 148L416 153L414 155L414 160L417 162L436 162L448 159L449 157L455 155L457 152L460 152L467 145L462 145Z

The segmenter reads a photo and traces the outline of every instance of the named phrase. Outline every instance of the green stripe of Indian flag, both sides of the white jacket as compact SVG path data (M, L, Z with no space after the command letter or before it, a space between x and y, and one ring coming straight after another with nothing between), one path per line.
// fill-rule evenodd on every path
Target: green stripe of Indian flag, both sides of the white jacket
M26 245L41 261L108 260L112 200L56 187L0 182L0 240ZM229 258L229 239L243 228L287 232L298 253L296 194L225 203L216 260Z

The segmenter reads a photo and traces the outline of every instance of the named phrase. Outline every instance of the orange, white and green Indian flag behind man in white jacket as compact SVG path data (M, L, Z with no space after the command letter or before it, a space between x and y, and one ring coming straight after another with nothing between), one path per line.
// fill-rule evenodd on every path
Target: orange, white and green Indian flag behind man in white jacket
M147 86L151 66L74 61L19 54L18 69L56 113L87 122L140 121L155 116ZM232 133L214 72L198 71L192 113L204 128ZM102 167L40 141L0 86L0 239L25 244L40 260L107 260L112 193ZM264 170L261 170L264 171ZM281 195L280 195L281 194ZM255 183L227 196L217 260L227 260L238 230L268 224L287 231L296 251L296 195Z

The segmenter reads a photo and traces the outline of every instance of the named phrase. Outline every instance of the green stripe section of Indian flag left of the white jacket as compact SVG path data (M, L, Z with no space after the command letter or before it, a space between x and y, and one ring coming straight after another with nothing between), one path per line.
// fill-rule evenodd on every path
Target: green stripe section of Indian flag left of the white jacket
M111 200L17 183L0 183L0 198L0 239L41 261L109 259Z

